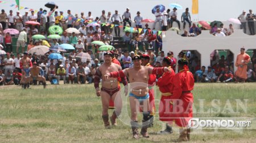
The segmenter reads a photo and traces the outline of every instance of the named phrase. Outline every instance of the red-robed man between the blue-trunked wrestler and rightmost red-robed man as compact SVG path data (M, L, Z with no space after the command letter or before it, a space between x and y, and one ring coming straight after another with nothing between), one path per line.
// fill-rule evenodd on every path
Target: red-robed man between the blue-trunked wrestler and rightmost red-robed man
M164 131L160 131L159 134L168 134L172 133L172 127L171 125L168 125L168 121L170 120L170 99L172 96L172 91L174 89L174 76L175 76L175 71L172 70L171 65L172 64L172 59L170 57L164 57L162 66L163 67L168 67L172 71L170 72L165 72L163 75L158 79L158 82L156 83L159 86L159 90L161 92L161 99L159 103L159 119L162 120L163 122L166 122L166 129Z

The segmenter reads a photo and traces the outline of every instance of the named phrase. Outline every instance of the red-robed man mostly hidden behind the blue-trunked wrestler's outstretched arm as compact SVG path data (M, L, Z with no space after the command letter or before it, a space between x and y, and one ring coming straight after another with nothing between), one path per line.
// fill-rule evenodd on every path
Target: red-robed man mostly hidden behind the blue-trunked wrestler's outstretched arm
M146 67L152 67L150 65L150 56L148 54L141 55L141 63L142 66ZM156 75L150 74L148 78L148 94L150 95L150 119L154 120L155 115L155 92L154 92L154 86L155 86L155 79ZM153 123L150 124L150 127L152 127Z

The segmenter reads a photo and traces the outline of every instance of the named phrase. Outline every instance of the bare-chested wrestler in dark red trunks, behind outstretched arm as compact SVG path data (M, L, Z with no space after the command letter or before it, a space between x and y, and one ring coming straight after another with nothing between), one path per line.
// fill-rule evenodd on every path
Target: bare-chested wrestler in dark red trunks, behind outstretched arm
M100 79L102 79L102 75L105 75L108 72L114 72L122 70L122 68L115 63L112 63L112 53L107 52L104 54L104 64L102 64L100 67L96 70L96 75L94 77L94 87L96 89L97 96L101 96L101 102L102 102L102 119L104 121L105 128L110 128L109 124L109 101L112 99L112 101L115 101L115 111L113 112L113 115L110 116L110 121L112 125L117 125L116 118L118 115L121 114L122 109L122 100L121 98L116 97L120 96L117 94L120 90L119 81L117 77L115 78L109 78L108 80L103 81L102 80L102 86L101 89L99 88ZM127 85L126 77L122 78L123 85ZM127 88L125 90L127 94ZM117 101L118 100L118 101Z

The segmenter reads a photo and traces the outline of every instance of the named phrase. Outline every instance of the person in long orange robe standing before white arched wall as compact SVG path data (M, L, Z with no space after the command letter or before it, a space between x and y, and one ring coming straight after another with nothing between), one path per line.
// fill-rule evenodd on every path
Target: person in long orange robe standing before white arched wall
M237 55L236 59L236 67L237 71L235 72L234 76L237 82L244 83L247 79L247 64L250 62L250 56L245 53L245 48L241 47L240 54Z

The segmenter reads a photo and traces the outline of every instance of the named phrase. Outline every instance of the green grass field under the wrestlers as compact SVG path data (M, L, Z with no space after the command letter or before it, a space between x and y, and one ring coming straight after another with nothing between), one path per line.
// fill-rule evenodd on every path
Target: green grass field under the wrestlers
M255 118L255 87L255 83L196 84L194 116ZM118 127L105 129L101 100L96 97L93 85L31 88L21 90L18 86L0 86L0 142L172 142L178 137L177 127L171 135L156 135L163 125L158 119L155 119L154 127L148 129L150 138L147 139L134 140L131 128L119 120ZM160 98L158 90L155 98ZM212 109L213 99L219 99L220 111ZM237 109L236 99L248 99L246 112ZM234 112L227 109L230 106ZM242 132L228 129L193 131L191 142L256 142L255 121L251 122L254 129L247 128Z

